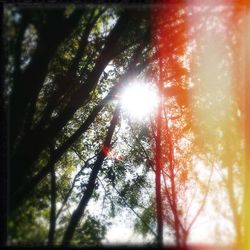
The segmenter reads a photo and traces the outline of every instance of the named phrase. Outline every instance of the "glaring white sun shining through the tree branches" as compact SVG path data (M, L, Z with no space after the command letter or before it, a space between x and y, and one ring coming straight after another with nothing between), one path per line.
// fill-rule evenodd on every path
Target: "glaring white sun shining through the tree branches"
M156 91L142 81L131 82L121 94L121 106L130 117L143 120L155 113L159 102Z

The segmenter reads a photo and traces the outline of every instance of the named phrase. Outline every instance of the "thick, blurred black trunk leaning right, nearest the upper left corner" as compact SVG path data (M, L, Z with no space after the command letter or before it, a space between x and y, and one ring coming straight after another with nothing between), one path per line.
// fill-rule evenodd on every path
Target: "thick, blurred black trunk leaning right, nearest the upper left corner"
M82 11L76 11L69 19L66 19L62 11L52 11L47 23L38 31L39 40L31 62L24 72L17 74L13 80L10 97L11 148L16 145L17 136L23 129L28 109L35 105L47 75L50 60L59 45L70 36L82 14ZM20 39L19 42L21 43ZM16 47L18 48L18 46Z

